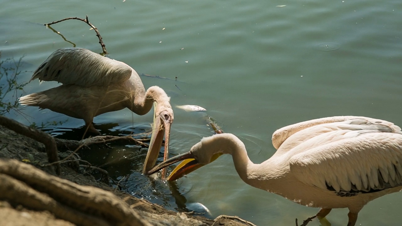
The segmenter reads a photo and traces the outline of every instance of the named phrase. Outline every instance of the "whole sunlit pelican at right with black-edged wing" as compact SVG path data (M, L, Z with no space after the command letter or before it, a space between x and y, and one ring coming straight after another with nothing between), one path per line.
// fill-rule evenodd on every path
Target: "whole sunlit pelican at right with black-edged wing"
M176 180L222 154L232 154L240 178L249 185L291 201L321 208L349 208L348 226L369 201L402 189L402 132L388 121L356 116L314 119L278 129L275 154L261 164L247 156L232 134L203 138L185 154L155 166L149 174L181 162L169 176Z

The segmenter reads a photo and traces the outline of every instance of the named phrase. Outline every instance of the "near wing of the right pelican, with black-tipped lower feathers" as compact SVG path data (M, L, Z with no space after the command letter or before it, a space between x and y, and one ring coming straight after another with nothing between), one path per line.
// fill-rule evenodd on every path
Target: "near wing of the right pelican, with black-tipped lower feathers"
M323 144L308 149L323 139ZM341 196L402 185L400 131L332 131L295 147L298 148L305 151L290 158L290 171L308 185L336 191Z

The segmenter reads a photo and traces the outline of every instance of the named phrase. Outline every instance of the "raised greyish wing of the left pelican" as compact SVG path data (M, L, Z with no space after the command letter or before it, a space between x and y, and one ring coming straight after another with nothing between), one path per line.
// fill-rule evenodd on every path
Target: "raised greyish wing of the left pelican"
M29 82L57 81L79 86L108 86L124 82L131 76L132 68L127 64L103 57L88 49L64 48L54 51L43 62Z

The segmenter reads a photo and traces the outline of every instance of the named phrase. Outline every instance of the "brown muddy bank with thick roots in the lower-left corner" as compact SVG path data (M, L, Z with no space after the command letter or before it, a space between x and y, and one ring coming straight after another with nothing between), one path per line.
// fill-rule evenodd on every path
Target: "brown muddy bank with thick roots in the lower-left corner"
M71 153L59 148L60 159ZM57 176L43 144L0 126L0 225L251 225L166 210L82 172L74 155Z

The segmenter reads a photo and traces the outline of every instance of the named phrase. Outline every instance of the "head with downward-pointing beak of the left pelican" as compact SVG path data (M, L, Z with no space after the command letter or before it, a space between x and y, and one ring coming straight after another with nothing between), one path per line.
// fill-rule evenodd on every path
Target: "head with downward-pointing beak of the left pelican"
M170 126L173 123L173 110L167 101L154 101L154 123L152 126L152 136L148 153L144 163L143 173L149 171L156 163L160 148L162 147L163 136L165 136L164 160L167 160L169 154L169 135ZM162 178L166 176L165 170L162 172Z

